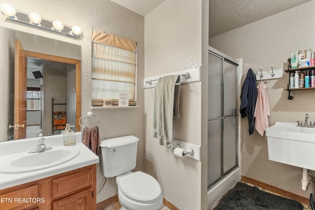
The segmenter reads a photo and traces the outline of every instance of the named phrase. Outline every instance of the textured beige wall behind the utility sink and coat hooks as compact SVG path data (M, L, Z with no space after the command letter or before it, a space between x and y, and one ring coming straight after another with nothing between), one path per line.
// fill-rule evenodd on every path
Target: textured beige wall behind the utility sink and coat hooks
M233 57L244 59L243 80L249 68L254 72L282 69L290 52L311 48L315 50L315 0L247 26L238 28L210 39L210 46ZM295 122L315 120L315 91L292 91L293 100L288 100L288 73L284 78L267 80L271 115L269 125L276 121ZM242 83L243 84L243 83ZM248 133L248 120L242 120L242 175L259 180L284 190L309 197L314 184L304 192L301 189L301 168L268 160L267 140L257 131ZM313 175L315 172L311 171Z

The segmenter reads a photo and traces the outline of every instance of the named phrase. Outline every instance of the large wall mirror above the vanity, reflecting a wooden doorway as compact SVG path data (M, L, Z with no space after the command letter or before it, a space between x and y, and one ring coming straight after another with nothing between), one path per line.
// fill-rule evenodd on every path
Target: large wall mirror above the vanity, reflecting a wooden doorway
M3 27L0 46L0 141L80 131L81 46Z

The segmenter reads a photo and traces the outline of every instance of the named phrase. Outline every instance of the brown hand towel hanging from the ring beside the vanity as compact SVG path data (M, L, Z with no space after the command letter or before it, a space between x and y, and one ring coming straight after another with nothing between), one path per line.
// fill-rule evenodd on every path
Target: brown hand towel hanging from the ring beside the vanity
M92 150L96 155L100 155L98 126L85 127L83 130L83 144Z

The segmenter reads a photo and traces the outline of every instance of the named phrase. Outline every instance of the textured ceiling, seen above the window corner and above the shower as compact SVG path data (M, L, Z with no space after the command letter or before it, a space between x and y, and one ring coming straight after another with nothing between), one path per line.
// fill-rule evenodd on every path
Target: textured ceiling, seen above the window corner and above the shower
M164 0L111 0L146 16ZM311 0L209 0L209 38Z

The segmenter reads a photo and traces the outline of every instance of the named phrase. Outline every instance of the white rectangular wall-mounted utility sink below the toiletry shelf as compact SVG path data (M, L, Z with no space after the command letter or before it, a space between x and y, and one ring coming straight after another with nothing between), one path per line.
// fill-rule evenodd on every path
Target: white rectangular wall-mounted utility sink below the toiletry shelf
M315 128L276 122L266 136L269 160L315 170Z

